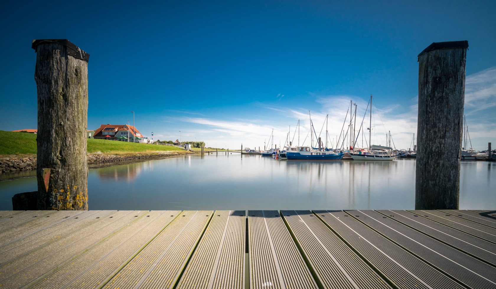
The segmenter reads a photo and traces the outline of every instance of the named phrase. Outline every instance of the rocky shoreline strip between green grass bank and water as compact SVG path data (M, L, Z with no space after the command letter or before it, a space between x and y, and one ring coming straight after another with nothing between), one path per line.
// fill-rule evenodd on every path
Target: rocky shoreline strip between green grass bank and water
M194 154L194 152L186 153ZM88 155L88 165L112 164L126 161L146 161L154 159L163 159L185 155L185 153L155 153L155 154L137 154L137 155ZM21 171L36 170L36 157L16 157L9 156L0 159L0 173L15 173Z

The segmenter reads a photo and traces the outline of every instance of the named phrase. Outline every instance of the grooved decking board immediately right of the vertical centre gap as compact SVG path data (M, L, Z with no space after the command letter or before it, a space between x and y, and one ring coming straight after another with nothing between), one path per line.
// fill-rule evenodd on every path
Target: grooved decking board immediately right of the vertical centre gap
M278 211L248 211L250 289L317 288Z

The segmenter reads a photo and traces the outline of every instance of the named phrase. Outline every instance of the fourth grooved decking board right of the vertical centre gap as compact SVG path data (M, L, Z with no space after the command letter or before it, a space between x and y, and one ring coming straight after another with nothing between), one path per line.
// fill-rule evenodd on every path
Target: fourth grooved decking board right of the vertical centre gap
M375 211L347 211L384 237L470 288L496 288L496 268ZM394 215L393 215L394 216Z

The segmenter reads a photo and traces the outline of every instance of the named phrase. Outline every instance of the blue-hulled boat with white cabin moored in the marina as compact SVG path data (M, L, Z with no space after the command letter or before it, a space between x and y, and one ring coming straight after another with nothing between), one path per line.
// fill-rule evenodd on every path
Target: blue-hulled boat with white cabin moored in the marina
M310 112L309 112L310 115ZM318 139L318 148L313 148L313 123L310 115L310 146L297 146L296 150L286 151L286 158L288 160L341 160L344 153L342 151L326 150L322 147L320 138ZM315 134L315 137L317 135Z

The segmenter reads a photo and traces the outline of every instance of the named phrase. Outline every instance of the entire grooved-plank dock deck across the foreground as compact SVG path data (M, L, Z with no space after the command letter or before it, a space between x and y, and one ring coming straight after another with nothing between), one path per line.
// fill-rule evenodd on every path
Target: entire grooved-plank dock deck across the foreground
M496 211L0 211L0 288L496 288Z

